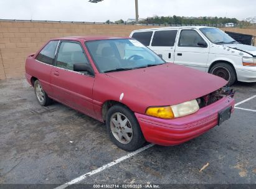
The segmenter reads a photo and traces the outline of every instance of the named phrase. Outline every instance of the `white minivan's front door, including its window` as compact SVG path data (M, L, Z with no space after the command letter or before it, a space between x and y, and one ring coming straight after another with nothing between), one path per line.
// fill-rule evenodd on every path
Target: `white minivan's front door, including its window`
M174 63L206 71L209 44L194 29L182 29L176 44Z

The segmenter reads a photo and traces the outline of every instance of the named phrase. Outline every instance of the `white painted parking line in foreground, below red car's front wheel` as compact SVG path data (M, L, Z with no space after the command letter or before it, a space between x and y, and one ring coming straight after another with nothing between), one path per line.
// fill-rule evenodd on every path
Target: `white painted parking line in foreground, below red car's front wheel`
M152 147L153 145L154 145L154 144L148 144L148 145L146 145L145 147L142 147L142 148L140 148L140 149L138 149L138 150L135 150L134 152L131 152L131 153L129 153L129 154L123 156L123 157L120 157L119 159L114 160L113 162L110 162L110 163L108 163L108 164L106 164L106 165L103 165L103 166L100 167L100 168L97 168L97 169L95 169L95 170L92 170L91 172L85 173L84 175L81 175L80 177L74 178L74 179L71 180L70 182L67 182L67 183L65 183L64 185L60 185L59 187L56 187L55 189L64 189L64 188L67 188L67 187L69 187L70 185L73 185L73 184L75 184L75 183L78 183L78 182L82 181L83 179L85 179L85 178L87 178L87 177L90 177L90 176L92 176L92 175L94 175L94 174L96 174L96 173L98 173L98 172L102 172L103 170L105 170L105 169L107 169L107 168L109 168L109 167L112 167L113 165L116 165L116 164L122 162L123 160L126 160L126 159L128 159L128 158L130 158L130 157L133 157L134 155L139 154L140 152L142 152L142 151L144 151L144 150L146 150L146 149L149 149L149 148Z

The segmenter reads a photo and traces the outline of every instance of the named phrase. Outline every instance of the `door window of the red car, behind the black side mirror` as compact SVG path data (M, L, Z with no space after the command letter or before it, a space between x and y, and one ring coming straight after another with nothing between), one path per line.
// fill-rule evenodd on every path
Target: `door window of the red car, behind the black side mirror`
M62 42L57 56L56 67L73 70L75 63L88 63L83 48L75 42Z

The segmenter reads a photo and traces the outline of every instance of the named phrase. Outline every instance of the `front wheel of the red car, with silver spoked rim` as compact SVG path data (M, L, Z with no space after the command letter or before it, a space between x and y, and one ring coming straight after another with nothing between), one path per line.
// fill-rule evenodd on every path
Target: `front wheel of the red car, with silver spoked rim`
M145 143L135 114L121 104L108 110L106 124L111 141L120 149L133 151Z

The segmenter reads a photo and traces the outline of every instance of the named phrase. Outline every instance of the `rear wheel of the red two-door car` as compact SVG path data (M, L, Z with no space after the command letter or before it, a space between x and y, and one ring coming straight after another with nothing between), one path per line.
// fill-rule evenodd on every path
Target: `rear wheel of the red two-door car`
M36 80L34 83L34 91L36 94L37 101L41 106L48 106L52 104L52 99L50 99L48 95L45 93L39 80Z

